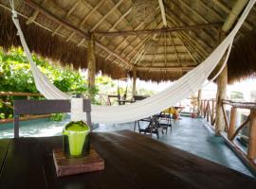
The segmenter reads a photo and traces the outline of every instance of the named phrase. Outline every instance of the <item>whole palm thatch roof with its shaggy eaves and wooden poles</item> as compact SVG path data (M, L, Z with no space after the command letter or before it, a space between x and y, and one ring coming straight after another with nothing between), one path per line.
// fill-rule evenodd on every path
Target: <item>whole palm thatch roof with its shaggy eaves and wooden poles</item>
M29 48L41 56L87 68L88 40L94 35L97 71L120 78L136 69L140 79L161 81L183 76L210 55L236 3L163 0L161 8L156 0L144 0L154 9L147 10L153 19L143 22L137 2L143 0L16 0L15 9ZM229 81L256 71L255 18L256 6L235 39ZM0 27L0 46L20 45L9 0L0 0Z

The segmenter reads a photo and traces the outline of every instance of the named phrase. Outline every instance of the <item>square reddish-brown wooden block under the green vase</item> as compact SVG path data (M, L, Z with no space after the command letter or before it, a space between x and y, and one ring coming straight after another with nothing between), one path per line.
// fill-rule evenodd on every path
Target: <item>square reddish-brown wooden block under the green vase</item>
M104 170L104 160L91 146L89 155L82 158L68 158L62 149L53 149L57 177Z

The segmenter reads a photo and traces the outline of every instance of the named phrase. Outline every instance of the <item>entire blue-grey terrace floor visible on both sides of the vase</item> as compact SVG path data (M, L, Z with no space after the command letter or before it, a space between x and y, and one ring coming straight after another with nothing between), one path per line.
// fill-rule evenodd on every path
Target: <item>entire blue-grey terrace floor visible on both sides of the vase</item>
M62 134L64 125L69 118L62 122L53 122L49 119L22 121L20 125L21 137L44 137ZM94 132L112 132L117 130L134 130L134 123L127 124L100 124ZM141 127L146 127L147 123ZM181 117L179 121L172 121L173 129L169 128L167 134L160 132L157 139L152 138L168 146L174 146L188 151L196 156L219 163L236 171L255 177L247 166L235 155L222 137L214 135L209 125L201 118ZM138 130L136 130L138 132ZM141 134L143 135L143 134ZM0 138L13 137L12 123L0 125ZM150 137L150 136L149 136Z

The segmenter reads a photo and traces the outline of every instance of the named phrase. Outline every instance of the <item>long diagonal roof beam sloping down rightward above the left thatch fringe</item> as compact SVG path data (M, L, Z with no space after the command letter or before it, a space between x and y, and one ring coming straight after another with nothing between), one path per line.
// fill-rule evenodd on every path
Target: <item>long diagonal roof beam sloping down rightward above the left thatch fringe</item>
M65 22L63 19L56 17L54 14L52 14L51 12L49 12L48 10L42 8L41 6L39 6L37 3L31 1L31 0L24 0L24 2L27 4L27 6L29 6L30 8L33 9L37 9L40 11L41 14L45 15L47 18L49 18L50 20L54 21L55 23L62 25L66 28L68 28L69 30L75 32L76 34L78 34L79 36L81 36L82 38L89 40L89 34L83 32L81 29L70 25L69 23ZM95 42L95 44L97 46L99 46L101 49L105 50L107 53L115 56L117 59L125 62L127 65L129 65L127 60L124 60L123 58L121 58L117 53L109 50L106 46L104 46L103 44L99 43L99 42Z

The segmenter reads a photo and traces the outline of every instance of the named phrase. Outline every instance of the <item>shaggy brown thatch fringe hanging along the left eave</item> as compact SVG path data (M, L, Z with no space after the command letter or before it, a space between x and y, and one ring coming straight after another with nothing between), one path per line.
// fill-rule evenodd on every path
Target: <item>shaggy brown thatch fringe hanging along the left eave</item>
M9 11L0 11L0 46L8 50L11 46L21 46L16 27L11 22ZM87 68L87 49L76 43L65 42L62 37L52 36L49 31L36 25L26 25L26 20L19 18L29 49L42 57L58 61L62 65L72 65L75 69ZM96 71L113 78L126 76L119 66L97 57Z

